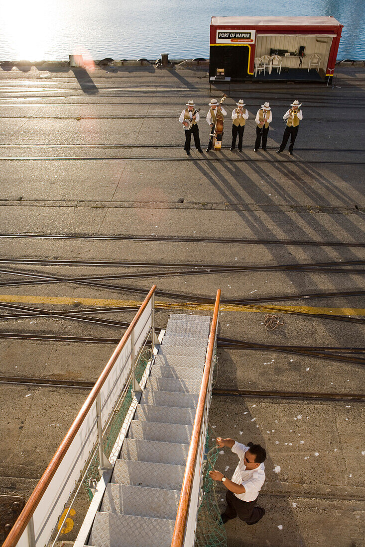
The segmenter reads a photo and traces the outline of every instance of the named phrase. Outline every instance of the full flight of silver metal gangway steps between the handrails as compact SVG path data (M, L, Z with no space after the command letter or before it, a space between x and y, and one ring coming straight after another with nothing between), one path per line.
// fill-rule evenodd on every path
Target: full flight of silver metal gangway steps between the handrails
M172 315L88 545L170 547L210 317Z

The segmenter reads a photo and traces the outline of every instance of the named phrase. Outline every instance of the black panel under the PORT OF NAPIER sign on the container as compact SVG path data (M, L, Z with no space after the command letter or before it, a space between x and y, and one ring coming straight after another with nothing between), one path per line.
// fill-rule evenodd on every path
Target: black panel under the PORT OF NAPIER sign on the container
M225 68L225 76L232 80L248 77L247 45L211 45L209 50L209 76L215 76L217 68Z

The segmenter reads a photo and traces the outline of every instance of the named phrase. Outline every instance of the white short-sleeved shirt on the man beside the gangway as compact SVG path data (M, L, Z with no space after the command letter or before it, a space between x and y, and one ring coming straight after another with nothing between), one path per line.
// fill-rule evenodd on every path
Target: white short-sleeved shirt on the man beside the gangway
M265 482L265 465L260 463L256 469L246 469L243 456L247 450L249 450L249 446L237 443L237 441L232 446L232 452L237 454L239 462L231 481L244 486L246 490L243 494L235 494L236 498L242 499L244 502L253 502L258 497L261 486Z

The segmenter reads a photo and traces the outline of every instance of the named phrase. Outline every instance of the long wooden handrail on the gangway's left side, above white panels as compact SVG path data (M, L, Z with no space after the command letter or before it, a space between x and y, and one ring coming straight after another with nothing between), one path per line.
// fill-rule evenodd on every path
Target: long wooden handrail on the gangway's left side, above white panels
M134 329L138 319L141 317L142 313L144 312L147 304L152 298L153 293L156 290L156 285L153 285L149 294L147 294L145 300L142 302L142 305L138 312L136 313L135 317L133 318L132 323L130 323L128 329L124 333L122 340L117 345L115 351L113 352L111 358L105 365L104 370L100 374L98 380L96 380L96 383L90 391L87 399L85 400L84 404L82 405L78 415L76 416L75 420L72 423L72 426L66 433L66 436L64 440L62 440L60 446L55 452L55 455L53 456L52 460L48 464L47 469L43 473L41 479L39 479L39 482L35 489L33 490L30 498L28 499L27 503L25 504L24 509L21 511L18 519L16 520L13 528L10 530L8 537L5 539L5 542L3 543L2 547L15 547L15 545L19 542L19 539L22 535L22 533L25 531L28 522L30 521L33 513L35 512L37 505L42 499L42 496L49 485L50 481L52 480L56 470L58 469L62 459L64 458L67 449L69 449L72 440L75 438L76 433L78 432L79 428L81 427L82 422L84 421L85 416L87 415L88 411L90 410L92 404L94 403L98 393L100 392L100 389L104 385L105 380L107 379L107 376L109 375L111 369L113 368L113 365L115 364L117 357L119 356L119 353L121 353L123 347L126 345L126 342L130 336L130 333L132 333L132 330Z

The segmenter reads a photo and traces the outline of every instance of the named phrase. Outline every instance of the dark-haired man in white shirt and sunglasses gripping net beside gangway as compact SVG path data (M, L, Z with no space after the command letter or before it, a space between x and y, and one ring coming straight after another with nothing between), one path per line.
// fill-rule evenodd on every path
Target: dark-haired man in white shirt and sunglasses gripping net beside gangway
M227 507L221 514L221 519L226 523L238 516L248 525L256 524L265 515L265 509L255 505L265 482L266 451L259 444L248 443L248 446L245 446L233 439L221 437L216 439L216 443L220 448L228 446L239 457L231 480L219 471L209 472L213 480L222 481L227 488Z

